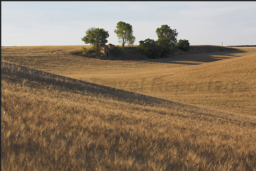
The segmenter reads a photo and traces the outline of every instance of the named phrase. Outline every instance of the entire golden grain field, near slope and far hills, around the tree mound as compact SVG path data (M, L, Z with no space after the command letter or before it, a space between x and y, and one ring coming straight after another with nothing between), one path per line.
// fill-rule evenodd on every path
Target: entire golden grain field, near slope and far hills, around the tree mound
M256 170L255 47L136 61L81 48L2 47L1 170Z

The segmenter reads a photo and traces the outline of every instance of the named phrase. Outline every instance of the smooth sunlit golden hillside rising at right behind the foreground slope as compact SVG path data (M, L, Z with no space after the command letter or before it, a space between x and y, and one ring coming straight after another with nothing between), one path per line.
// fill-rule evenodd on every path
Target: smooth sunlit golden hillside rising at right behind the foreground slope
M205 53L203 55L207 56ZM182 57L176 58L182 59ZM190 57L197 59L198 55L194 54ZM129 75L129 80L134 81L138 86L126 87L126 90L255 116L256 50L247 54L212 54L211 57L225 60L201 62L202 64L197 64L199 60L193 63L180 60L174 62L190 66L133 73ZM167 59L161 60L163 62ZM125 81L129 84L127 77L116 76L113 80L125 85ZM118 87L115 86L115 81L111 84L109 80L104 76L105 85Z

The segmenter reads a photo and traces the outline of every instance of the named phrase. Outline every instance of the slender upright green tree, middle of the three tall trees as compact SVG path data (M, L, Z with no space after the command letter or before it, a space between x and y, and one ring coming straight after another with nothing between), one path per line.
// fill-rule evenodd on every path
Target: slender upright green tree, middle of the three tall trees
M115 27L116 30L114 30L114 33L119 39L118 42L121 43L123 47L126 43L128 43L128 45L134 44L135 36L133 36L132 25L119 21Z

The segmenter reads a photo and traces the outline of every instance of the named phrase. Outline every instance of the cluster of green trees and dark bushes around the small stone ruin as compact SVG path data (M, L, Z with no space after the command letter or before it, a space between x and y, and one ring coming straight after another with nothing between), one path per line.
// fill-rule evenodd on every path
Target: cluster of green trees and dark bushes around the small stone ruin
M186 39L180 39L177 41L178 32L176 29L171 29L168 25L162 25L156 29L158 40L145 39L139 41L137 49L148 56L149 58L164 58L169 54L173 54L177 48L181 50L189 50L189 42ZM108 31L103 28L89 28L86 35L82 38L85 44L93 45L94 50L99 50L100 45L106 45L107 38L109 37ZM122 44L123 48L125 44L133 45L135 42L135 36L133 36L132 25L126 22L118 22L114 33L118 37L118 42ZM83 48L83 52L88 50ZM117 46L112 50L113 56L121 56L122 49Z

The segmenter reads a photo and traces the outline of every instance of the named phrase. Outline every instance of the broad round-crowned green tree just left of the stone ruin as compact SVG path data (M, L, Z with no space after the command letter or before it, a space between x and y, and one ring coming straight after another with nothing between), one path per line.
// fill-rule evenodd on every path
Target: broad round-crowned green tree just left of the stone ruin
M100 49L100 45L106 45L107 43L107 38L110 36L108 34L108 31L105 31L103 28L89 28L86 32L85 32L85 36L82 39L82 41L85 44L90 44L93 45L94 49L99 50Z

